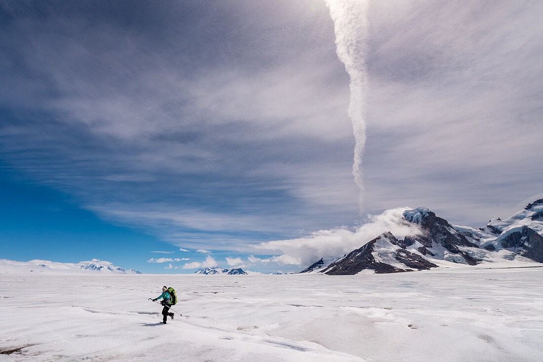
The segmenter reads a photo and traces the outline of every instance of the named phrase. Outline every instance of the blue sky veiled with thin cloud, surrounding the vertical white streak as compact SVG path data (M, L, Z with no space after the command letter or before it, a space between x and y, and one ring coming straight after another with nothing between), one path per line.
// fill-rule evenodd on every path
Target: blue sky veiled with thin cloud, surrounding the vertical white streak
M542 192L542 10L369 2L361 211L324 2L4 1L0 257L296 270L251 245L508 217Z

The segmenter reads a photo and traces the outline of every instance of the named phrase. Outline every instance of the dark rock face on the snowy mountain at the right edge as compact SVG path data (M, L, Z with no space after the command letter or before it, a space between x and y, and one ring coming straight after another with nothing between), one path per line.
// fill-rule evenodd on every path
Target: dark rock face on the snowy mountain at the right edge
M500 242L504 248L515 248L519 255L543 263L543 237L528 226L508 232Z

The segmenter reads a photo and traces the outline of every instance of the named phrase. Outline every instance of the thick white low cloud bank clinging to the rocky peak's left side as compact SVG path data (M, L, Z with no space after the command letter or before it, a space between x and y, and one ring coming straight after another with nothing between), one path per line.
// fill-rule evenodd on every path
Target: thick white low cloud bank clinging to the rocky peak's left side
M408 223L402 217L403 212L408 209L411 208L394 208L380 215L370 216L369 223L357 226L355 230L346 227L319 230L307 237L261 243L256 245L256 248L281 253L272 260L279 265L311 265L320 258L343 256L386 231L392 232L399 239L420 234L418 226Z

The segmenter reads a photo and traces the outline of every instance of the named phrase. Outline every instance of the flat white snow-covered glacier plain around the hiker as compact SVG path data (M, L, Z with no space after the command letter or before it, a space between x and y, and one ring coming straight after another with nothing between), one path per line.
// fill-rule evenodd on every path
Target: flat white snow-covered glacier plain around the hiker
M0 361L541 361L543 268L0 275ZM173 320L148 300L174 287Z

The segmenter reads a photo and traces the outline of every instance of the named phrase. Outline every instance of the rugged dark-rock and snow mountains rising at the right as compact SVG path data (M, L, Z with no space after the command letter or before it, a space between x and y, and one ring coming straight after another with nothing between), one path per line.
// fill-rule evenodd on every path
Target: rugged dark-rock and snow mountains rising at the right
M485 227L457 226L427 208L403 213L404 223L420 233L397 239L384 230L375 239L344 256L319 261L301 273L353 275L427 270L452 264L531 266L543 263L543 199L528 204L512 217L491 219Z

